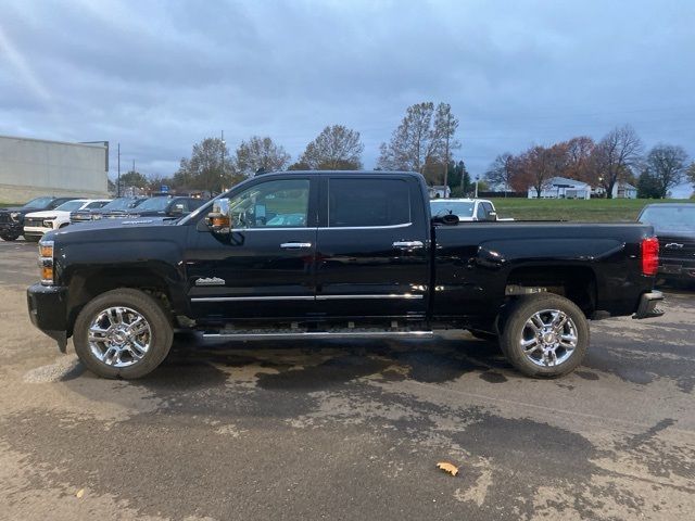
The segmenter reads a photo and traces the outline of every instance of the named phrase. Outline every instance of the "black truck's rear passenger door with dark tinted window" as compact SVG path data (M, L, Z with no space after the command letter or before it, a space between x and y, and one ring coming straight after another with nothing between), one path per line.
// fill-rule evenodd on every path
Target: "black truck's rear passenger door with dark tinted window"
M317 313L424 317L429 223L416 178L353 174L321 181Z

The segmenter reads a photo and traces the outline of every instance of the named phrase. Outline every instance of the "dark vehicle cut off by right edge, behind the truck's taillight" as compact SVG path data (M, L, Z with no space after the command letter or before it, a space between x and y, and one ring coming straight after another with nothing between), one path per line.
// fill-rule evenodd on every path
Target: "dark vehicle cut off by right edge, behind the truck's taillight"
M659 276L695 282L695 203L647 204L637 220L659 238Z

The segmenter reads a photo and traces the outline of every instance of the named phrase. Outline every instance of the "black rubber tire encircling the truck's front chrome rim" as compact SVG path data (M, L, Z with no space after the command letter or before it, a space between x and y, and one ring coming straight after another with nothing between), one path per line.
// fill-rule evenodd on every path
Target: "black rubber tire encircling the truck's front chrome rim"
M92 353L88 341L91 322L104 309L115 306L127 307L140 314L147 320L151 331L147 353L137 363L127 367L104 364ZM164 361L173 340L174 330L163 305L147 293L126 288L108 291L89 301L77 316L73 331L73 343L77 356L90 371L103 378L130 380L144 377Z

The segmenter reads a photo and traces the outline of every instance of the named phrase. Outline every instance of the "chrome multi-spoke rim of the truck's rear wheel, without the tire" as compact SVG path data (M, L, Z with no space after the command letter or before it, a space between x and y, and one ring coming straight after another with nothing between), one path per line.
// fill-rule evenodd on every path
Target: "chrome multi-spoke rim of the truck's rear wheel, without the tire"
M577 326L559 309L534 313L521 330L519 344L523 355L541 367L559 366L577 348Z

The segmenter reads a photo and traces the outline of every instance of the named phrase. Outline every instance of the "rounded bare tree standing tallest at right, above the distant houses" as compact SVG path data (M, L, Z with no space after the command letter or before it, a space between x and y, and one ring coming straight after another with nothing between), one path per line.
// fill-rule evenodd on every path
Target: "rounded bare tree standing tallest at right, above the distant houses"
M641 153L642 140L630 125L611 130L595 147L592 166L608 199L612 198L616 183L639 166Z

